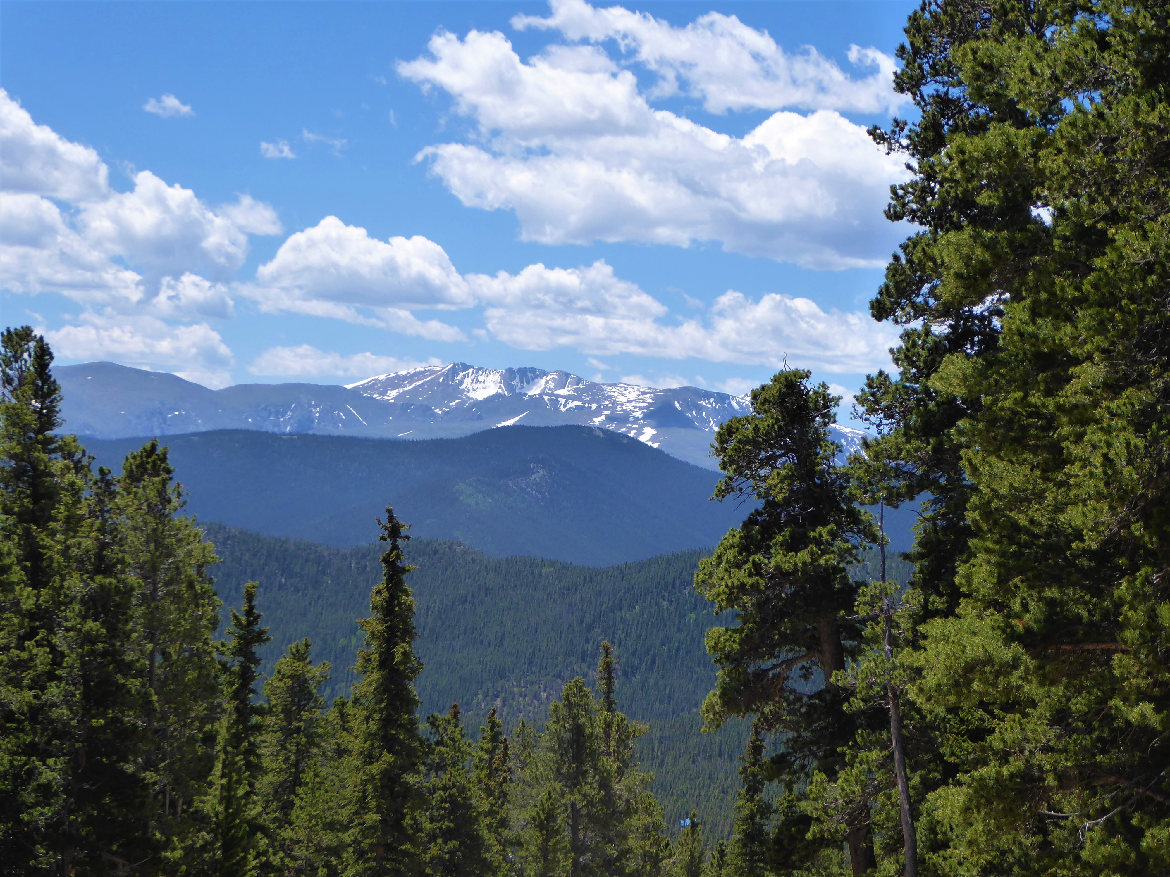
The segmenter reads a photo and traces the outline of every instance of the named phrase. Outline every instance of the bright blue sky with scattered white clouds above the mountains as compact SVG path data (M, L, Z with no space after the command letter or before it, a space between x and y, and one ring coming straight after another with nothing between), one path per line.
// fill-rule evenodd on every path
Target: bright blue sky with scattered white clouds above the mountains
M846 392L906 2L0 6L4 320L208 386Z

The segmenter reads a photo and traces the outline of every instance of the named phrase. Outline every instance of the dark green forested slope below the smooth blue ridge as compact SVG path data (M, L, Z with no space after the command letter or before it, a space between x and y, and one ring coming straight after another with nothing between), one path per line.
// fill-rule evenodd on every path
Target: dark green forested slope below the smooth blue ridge
M260 583L256 606L273 642L264 671L289 643L314 642L333 667L326 699L347 695L360 645L356 620L367 612L383 547L330 548L275 539L215 523L200 524L220 562L211 574L220 598L239 606L243 586ZM504 727L541 726L549 702L573 677L589 678L598 643L620 661L624 711L649 726L636 744L667 815L696 809L716 835L731 827L746 726L702 734L698 707L715 683L703 645L716 620L693 580L701 552L689 551L604 568L539 558L491 558L459 543L412 539L407 562L415 600L415 650L426 665L418 691L422 714L459 703L472 726L496 707ZM876 561L856 571L876 574ZM892 561L906 581L909 567Z

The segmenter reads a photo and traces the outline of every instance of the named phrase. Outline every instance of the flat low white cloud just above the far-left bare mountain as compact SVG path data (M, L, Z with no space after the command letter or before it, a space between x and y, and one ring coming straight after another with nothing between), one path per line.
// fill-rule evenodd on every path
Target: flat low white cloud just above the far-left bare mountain
M232 351L206 323L172 326L156 317L85 313L81 325L44 331L57 355L164 368L207 386L232 382Z

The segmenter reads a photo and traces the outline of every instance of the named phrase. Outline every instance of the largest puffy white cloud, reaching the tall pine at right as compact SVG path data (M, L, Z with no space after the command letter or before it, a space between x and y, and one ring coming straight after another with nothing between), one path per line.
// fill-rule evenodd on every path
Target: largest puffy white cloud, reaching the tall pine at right
M422 150L464 205L511 209L525 240L724 249L820 269L878 267L903 236L882 215L906 179L835 110L780 111L731 137L653 109L596 46L524 62L501 34L436 34L401 76L449 92L480 143Z

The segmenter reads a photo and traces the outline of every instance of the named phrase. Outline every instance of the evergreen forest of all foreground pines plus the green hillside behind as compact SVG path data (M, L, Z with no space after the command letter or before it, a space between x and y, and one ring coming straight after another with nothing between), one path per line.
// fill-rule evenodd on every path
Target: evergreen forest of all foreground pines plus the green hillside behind
M778 372L715 435L744 517L709 555L197 525L167 449L96 467L6 330L0 869L1170 875L1170 4L924 0L899 58L872 437L838 461L840 399Z

